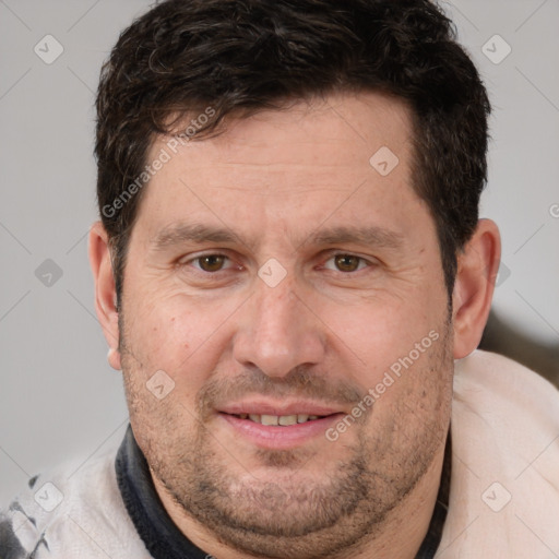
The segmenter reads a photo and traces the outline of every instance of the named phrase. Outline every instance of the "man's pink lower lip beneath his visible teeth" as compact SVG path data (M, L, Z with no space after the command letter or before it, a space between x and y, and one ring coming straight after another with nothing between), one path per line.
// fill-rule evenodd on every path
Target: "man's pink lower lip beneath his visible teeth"
M274 413L270 415L292 414L283 412L282 414ZM260 449L288 450L297 447L304 447L317 438L324 439L328 428L344 417L344 413L334 413L325 417L320 417L319 419L312 419L304 424L288 426L261 425L250 419L241 419L235 415L222 412L218 413L218 417L235 431L237 437L245 439L250 444Z

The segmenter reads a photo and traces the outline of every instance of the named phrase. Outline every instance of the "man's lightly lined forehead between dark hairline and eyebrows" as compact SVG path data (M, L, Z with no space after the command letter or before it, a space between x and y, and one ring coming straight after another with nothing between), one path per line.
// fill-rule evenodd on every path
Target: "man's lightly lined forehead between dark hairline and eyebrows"
M378 93L231 117L213 138L185 145L157 138L147 163L163 153L167 160L151 179L140 214L154 230L199 223L201 214L247 229L277 219L313 227L329 214L361 221L360 212L377 209L379 223L370 225L388 227L395 206L419 203L411 188L412 145L409 109Z

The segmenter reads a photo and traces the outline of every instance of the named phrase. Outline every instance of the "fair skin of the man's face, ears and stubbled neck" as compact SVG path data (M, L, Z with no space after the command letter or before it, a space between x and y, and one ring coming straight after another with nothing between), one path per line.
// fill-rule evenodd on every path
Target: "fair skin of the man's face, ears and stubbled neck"
M144 192L120 313L107 235L92 228L97 313L134 436L170 518L209 554L412 559L427 533L453 359L479 342L500 241L480 221L449 313L435 223L412 189L411 134L403 103L360 93L229 119L222 135L185 145ZM381 146L400 160L385 177L369 164ZM183 225L237 238L169 235ZM357 226L384 233L319 238ZM195 260L212 254L227 258ZM274 287L258 275L272 258L286 272ZM438 340L364 406L429 332ZM163 400L146 389L158 370L175 382ZM336 441L269 448L219 413L250 399L367 412Z

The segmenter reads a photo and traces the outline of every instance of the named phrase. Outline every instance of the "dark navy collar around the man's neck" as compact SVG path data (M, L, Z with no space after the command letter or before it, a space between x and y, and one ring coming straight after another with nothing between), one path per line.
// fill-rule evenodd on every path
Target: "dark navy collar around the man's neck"
M429 530L416 559L431 559L439 547L447 518L450 486L450 432L437 504ZM209 559L171 521L153 485L145 457L129 426L116 460L117 480L122 500L138 534L154 559Z

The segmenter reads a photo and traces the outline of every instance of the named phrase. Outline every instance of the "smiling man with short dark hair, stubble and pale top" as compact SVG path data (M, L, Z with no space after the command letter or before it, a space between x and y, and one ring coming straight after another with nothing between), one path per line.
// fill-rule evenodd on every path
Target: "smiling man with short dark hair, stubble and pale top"
M435 4L162 2L97 111L131 427L29 481L3 557L559 554L559 395L475 352L489 103Z

